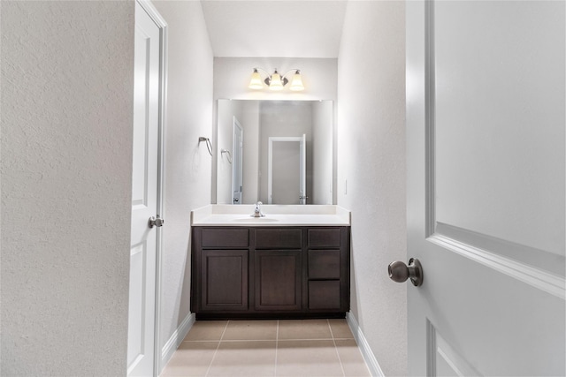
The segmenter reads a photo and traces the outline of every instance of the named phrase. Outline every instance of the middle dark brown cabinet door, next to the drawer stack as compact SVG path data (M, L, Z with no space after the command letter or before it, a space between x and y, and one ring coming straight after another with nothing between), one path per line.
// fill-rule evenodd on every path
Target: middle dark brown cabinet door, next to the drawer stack
M301 250L256 251L256 310L301 309Z

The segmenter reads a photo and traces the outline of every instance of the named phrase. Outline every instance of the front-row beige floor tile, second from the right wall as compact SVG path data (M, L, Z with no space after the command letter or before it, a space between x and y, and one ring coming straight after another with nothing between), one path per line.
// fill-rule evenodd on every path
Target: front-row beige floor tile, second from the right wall
M332 340L289 340L277 343L277 376L343 376Z

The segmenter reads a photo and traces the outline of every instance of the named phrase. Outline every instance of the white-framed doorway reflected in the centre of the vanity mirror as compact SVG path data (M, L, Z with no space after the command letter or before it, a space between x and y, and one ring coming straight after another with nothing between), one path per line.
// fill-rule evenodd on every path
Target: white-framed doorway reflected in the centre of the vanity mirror
M307 204L306 135L269 138L268 159L268 203Z

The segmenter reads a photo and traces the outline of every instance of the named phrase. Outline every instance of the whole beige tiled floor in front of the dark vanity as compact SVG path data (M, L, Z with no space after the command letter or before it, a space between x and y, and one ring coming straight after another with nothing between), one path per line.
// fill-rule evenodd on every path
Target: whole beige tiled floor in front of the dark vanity
M199 320L172 376L369 376L346 320Z

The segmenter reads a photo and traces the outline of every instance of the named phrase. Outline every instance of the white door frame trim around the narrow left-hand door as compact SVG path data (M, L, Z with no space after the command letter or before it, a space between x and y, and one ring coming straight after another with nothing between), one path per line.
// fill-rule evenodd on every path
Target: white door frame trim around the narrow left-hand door
M164 214L164 134L167 103L167 35L168 26L150 0L136 0L137 4L149 15L149 18L159 28L159 125L157 126L157 216L165 218ZM160 327L161 322L161 265L163 248L163 230L156 228L156 299L153 347L153 375L161 372Z

